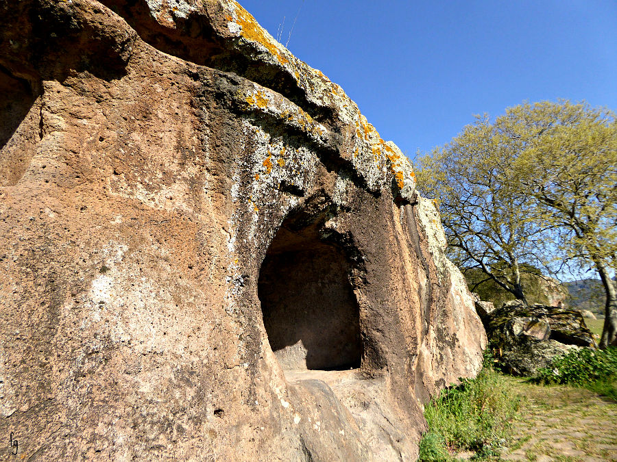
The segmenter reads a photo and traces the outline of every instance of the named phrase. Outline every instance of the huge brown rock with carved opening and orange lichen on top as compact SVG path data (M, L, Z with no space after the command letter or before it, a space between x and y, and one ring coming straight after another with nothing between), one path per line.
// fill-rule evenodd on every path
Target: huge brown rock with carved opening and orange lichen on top
M229 0L0 3L0 433L413 460L485 333L409 162Z

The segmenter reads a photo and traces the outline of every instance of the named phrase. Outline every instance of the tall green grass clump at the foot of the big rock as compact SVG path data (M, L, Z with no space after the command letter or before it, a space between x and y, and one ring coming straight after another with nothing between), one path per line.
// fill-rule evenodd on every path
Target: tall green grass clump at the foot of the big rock
M426 405L428 432L420 442L420 461L449 461L448 450L472 450L477 457L497 454L511 436L520 400L503 376L489 365L474 379L445 389Z

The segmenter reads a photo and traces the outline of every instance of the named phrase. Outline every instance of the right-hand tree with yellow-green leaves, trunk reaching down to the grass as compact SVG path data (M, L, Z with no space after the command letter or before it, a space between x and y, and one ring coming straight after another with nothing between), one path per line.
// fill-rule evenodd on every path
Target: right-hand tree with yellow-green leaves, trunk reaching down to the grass
M535 202L535 220L559 229L566 258L592 266L602 281L605 348L617 335L616 116L568 101L524 104L507 116L526 140L513 172Z

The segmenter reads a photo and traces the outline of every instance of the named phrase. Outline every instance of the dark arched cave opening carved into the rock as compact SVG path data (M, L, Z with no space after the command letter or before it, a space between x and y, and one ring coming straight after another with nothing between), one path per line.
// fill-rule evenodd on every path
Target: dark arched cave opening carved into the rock
M315 225L284 222L259 274L258 297L274 354L284 370L359 368L363 353L351 266Z

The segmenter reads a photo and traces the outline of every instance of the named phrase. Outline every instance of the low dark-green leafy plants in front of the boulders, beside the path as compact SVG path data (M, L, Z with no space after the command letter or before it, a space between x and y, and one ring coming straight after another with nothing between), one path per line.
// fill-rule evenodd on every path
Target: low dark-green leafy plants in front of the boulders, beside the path
M585 387L603 394L617 392L617 348L592 350L580 348L553 359L551 368L541 368L533 378L536 383L558 383ZM611 391L612 390L612 391Z

